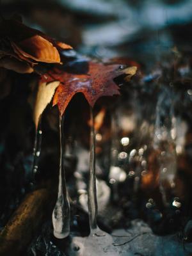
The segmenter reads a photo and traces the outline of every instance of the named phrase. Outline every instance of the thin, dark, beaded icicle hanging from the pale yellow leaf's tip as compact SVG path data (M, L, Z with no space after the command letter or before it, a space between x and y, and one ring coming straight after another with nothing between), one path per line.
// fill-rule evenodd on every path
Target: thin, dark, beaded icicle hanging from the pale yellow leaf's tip
M38 122L38 127L36 128L35 134L35 145L33 148L33 182L35 182L35 173L38 171L38 159L40 156L41 145L42 145L42 125L41 125L41 117Z

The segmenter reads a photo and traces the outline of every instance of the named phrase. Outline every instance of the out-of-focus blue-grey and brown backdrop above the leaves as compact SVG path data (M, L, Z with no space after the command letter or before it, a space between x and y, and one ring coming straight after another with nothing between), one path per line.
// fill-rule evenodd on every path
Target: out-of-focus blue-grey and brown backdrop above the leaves
M112 58L128 56L145 63L179 45L191 51L191 1L1 1L4 16L20 13L24 23L78 52Z

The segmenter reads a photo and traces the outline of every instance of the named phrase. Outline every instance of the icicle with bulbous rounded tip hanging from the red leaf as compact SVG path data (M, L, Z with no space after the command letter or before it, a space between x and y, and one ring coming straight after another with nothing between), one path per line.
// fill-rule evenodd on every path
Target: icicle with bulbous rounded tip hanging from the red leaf
M54 236L62 239L70 233L70 204L67 196L67 186L65 180L65 168L63 164L63 121L60 116L60 175L58 186L58 200L52 212L52 225Z

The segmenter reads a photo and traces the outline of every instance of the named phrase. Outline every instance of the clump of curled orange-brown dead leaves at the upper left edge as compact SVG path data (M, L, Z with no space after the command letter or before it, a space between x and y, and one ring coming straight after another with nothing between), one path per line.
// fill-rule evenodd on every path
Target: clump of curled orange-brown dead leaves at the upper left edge
M2 20L0 23L1 67L30 73L39 62L60 63L59 51L63 49L72 47L52 40L44 33L25 26L19 20ZM20 64L22 68L15 67L18 61L24 63ZM27 65L23 68L25 64Z

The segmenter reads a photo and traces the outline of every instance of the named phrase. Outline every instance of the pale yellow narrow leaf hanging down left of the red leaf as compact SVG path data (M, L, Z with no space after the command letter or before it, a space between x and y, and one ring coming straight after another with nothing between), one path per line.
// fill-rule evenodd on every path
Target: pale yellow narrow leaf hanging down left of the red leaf
M48 84L47 83L38 84L38 92L36 95L36 102L35 102L35 109L34 109L34 116L33 116L36 129L38 127L40 116L44 112L49 102L51 102L54 92L59 84L60 84L59 81L54 81Z

